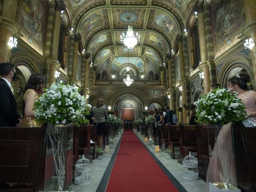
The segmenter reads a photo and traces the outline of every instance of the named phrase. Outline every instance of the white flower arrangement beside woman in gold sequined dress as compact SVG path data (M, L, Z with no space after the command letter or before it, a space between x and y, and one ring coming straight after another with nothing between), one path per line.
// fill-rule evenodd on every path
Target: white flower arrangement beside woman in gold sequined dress
M63 81L53 83L35 102L34 115L40 123L52 124L76 123L77 126L89 120L85 115L86 100L78 92L78 87L65 85Z

